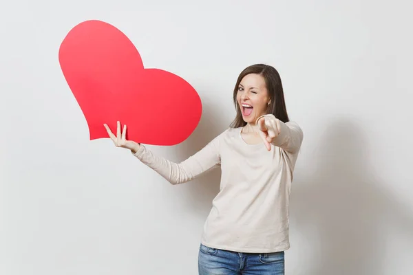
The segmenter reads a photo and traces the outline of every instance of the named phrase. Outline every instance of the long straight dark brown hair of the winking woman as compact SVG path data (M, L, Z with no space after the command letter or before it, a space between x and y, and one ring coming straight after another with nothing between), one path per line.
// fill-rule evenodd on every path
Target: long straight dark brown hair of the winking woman
M270 104L267 107L266 113L272 113L273 115L275 115L275 118L278 118L284 123L290 121L290 119L288 118L286 102L284 100L284 90L282 89L281 78L277 70L270 65L255 64L246 67L241 72L240 76L238 76L233 94L233 102L235 104L237 114L235 115L235 119L233 120L233 122L231 122L230 126L232 128L237 128L246 125L246 122L242 119L240 105L238 105L237 103L237 91L242 78L244 78L244 76L246 76L247 74L260 74L262 77L264 77L268 96L271 100Z

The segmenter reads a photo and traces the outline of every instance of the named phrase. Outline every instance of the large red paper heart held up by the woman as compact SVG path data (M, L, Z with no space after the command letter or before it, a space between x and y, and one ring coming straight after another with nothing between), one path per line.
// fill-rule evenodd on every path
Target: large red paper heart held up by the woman
M195 130L202 104L180 76L144 69L131 41L113 25L85 21L59 49L63 75L89 126L89 139L108 137L108 124L127 124L127 139L144 144L178 144Z

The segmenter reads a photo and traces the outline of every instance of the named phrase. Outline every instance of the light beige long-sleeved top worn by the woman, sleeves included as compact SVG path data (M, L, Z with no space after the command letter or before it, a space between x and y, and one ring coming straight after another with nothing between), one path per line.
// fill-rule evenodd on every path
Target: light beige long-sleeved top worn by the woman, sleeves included
M290 185L303 132L296 122L280 124L271 151L264 143L244 142L240 127L227 129L179 164L144 145L134 155L171 184L221 166L220 192L204 224L202 244L235 252L284 251L290 248Z

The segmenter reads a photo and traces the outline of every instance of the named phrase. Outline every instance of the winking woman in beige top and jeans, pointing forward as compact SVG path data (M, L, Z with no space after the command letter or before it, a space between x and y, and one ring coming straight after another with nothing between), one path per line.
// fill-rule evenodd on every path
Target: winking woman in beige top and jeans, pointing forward
M125 140L126 126L114 144L171 184L190 181L221 166L220 192L204 224L199 274L284 274L290 248L290 184L303 132L290 122L277 70L246 67L233 91L235 120L207 146L179 164L153 155L144 145Z

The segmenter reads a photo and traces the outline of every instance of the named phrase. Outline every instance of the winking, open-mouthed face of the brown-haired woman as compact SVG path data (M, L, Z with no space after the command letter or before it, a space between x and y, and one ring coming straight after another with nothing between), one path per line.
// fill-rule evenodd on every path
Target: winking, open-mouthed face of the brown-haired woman
M269 101L265 80L260 74L247 74L242 78L237 102L245 122L255 124L257 118L266 114Z

